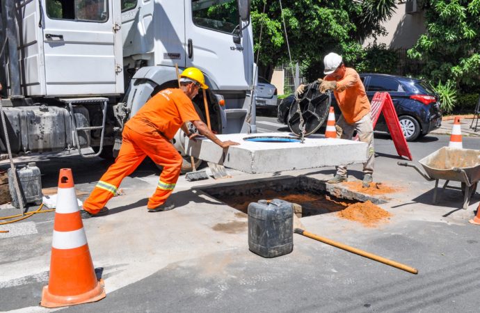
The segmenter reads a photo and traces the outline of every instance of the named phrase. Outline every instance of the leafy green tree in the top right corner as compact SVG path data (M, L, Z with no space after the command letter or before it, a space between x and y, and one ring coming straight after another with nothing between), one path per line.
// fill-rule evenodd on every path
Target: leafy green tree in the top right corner
M427 32L408 56L424 61L433 83L480 86L480 0L424 0Z

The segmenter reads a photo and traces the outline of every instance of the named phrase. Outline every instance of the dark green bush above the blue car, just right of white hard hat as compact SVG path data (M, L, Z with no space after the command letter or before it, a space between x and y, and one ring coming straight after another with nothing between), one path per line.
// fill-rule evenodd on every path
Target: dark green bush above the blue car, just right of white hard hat
M356 70L358 72L397 74L399 55L394 49L388 49L385 44L369 45L365 48L365 58Z

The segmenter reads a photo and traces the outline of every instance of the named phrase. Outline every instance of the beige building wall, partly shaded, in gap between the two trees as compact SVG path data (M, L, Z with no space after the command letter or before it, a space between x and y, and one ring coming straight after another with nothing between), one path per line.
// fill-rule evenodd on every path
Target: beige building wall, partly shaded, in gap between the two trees
M397 10L392 18L383 23L387 29L387 35L374 38L367 38L363 46L384 43L392 49L410 49L415 45L420 35L426 32L424 13L407 14L406 3L397 4Z

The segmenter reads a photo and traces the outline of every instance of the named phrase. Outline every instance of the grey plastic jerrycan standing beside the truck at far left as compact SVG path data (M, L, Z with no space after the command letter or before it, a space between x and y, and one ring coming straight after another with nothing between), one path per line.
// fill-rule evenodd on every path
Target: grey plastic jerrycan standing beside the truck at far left
M24 205L29 203L35 205L42 204L42 179L40 177L40 168L36 166L35 162L30 162L23 168L16 168L16 170ZM13 179L12 169L8 168L8 189L12 196L12 205L19 208L19 199L15 192L15 183L13 182Z

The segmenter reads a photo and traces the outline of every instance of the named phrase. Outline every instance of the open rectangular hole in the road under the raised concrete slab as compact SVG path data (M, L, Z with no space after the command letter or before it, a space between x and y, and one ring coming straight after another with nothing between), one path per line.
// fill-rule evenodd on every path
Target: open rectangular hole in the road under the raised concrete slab
M275 198L300 204L302 217L342 211L351 204L367 200L374 204L385 203L383 199L350 191L341 185L332 186L306 176L258 179L200 190L245 214L251 202Z

